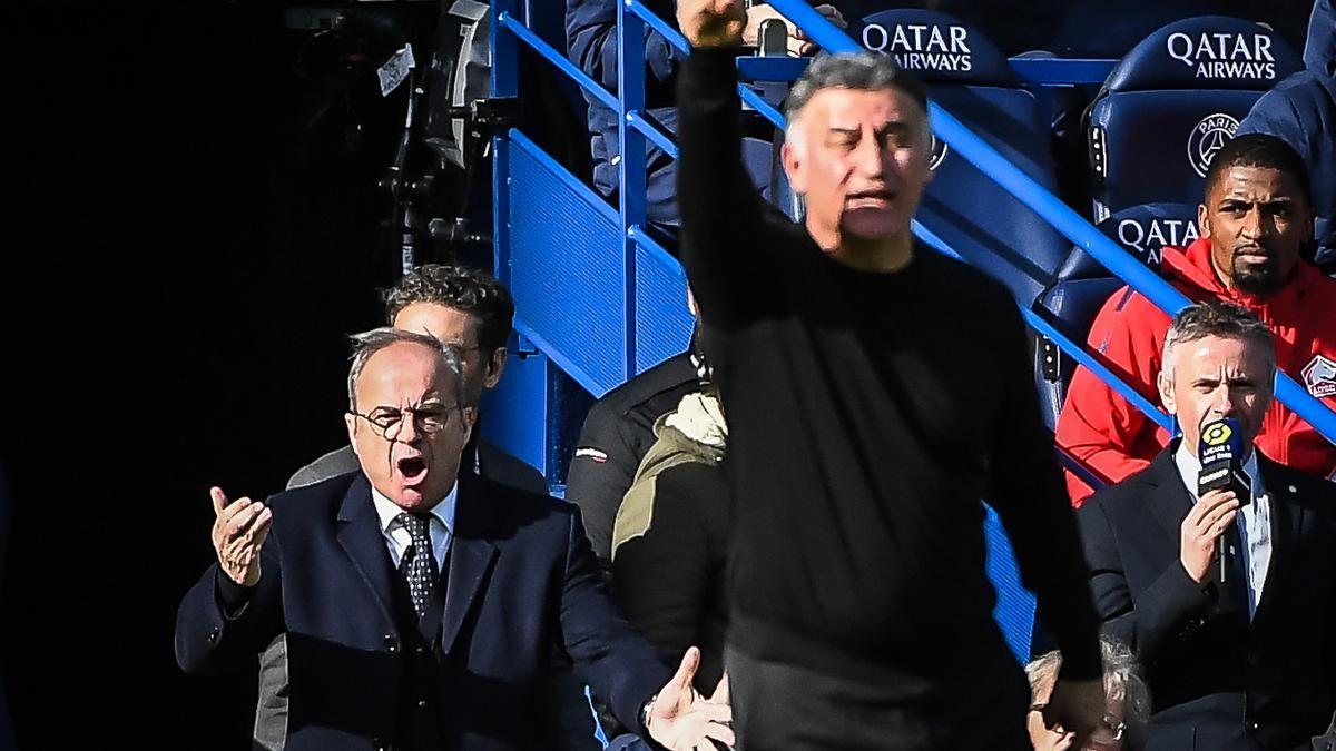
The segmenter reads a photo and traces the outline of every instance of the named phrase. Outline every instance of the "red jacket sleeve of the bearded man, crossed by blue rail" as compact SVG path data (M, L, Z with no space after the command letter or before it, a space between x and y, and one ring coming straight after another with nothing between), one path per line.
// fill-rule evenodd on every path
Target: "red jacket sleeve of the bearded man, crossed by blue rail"
M1090 327L1089 349L1137 389L1160 404L1156 376L1169 317L1124 287L1113 294ZM1146 466L1158 450L1156 424L1098 376L1078 366L1058 416L1055 441L1097 474L1117 482ZM1077 508L1093 492L1070 472L1067 490Z

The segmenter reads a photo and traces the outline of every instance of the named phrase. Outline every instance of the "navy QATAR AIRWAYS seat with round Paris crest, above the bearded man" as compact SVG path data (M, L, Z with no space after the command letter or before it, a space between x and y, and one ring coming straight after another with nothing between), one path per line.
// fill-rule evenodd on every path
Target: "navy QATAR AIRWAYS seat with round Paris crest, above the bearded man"
M1118 63L1086 128L1094 219L1196 203L1210 158L1253 102L1301 67L1269 29L1226 16L1168 24Z

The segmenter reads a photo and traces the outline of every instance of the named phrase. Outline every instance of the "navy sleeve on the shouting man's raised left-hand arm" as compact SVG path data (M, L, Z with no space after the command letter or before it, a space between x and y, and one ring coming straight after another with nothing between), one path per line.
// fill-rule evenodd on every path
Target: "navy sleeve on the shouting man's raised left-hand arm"
M191 675L210 675L251 664L282 632L282 571L278 535L261 549L259 584L238 608L224 605L218 564L186 592L176 611L176 664ZM238 588L239 589L239 588Z

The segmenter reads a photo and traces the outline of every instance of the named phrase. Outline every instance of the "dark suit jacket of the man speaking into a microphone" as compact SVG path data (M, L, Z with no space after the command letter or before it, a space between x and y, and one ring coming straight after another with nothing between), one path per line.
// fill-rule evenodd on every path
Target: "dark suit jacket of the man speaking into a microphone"
M1249 623L1241 567L1198 585L1178 561L1193 501L1177 445L1077 514L1104 631L1146 671L1146 750L1307 747L1336 703L1336 485L1257 456L1272 543Z

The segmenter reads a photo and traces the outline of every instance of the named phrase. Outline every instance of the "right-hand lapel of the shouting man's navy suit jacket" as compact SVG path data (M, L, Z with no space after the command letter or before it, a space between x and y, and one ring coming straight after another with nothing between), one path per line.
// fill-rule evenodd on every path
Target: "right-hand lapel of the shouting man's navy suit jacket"
M445 616L441 623L441 649L454 647L464 619L482 589L498 551L489 537L492 510L484 497L482 482L473 472L460 472L460 496L454 509L454 535L450 540L446 571Z

